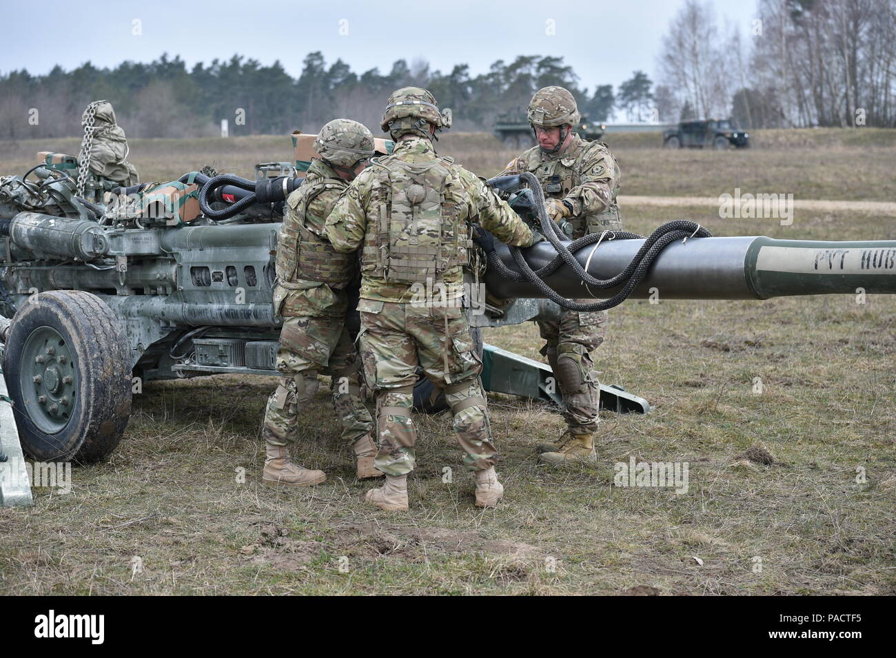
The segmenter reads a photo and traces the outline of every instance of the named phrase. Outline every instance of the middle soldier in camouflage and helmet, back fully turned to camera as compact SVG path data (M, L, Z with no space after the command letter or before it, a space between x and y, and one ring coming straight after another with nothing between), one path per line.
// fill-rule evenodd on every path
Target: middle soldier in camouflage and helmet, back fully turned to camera
M360 351L367 385L376 391L375 466L386 474L384 486L367 491L365 500L387 510L408 508L418 366L452 408L464 463L476 473L476 504L492 507L504 492L479 380L482 362L460 303L462 268L470 261L474 220L507 244L528 246L535 237L480 179L435 154L435 130L449 127L450 117L427 90L392 93L382 124L396 141L392 155L375 158L358 175L326 222L337 251L363 249Z

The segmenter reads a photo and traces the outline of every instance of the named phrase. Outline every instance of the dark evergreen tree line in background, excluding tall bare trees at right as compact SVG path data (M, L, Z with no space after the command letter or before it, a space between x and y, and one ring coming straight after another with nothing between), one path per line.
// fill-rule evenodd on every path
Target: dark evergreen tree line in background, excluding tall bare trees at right
M468 64L442 73L425 61L404 59L388 73L376 68L356 73L342 60L328 64L314 52L293 78L280 62L265 66L235 55L188 68L179 56L163 55L149 64L98 68L88 62L71 71L57 65L46 75L25 70L0 75L0 139L81 134L82 111L98 98L112 103L130 137L217 135L222 119L236 135L316 132L334 117L355 119L378 132L386 98L406 85L426 87L442 107L451 107L456 128L479 131L489 130L499 115L525 120L531 95L552 84L573 91L593 121L606 121L617 103L628 102L625 93L616 98L611 85L582 87L563 57L518 56L472 76Z

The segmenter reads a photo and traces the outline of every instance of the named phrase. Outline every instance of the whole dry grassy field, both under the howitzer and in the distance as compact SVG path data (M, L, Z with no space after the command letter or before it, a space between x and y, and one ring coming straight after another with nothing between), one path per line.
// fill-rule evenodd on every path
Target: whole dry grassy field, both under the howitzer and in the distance
M457 139L460 154L465 138ZM239 162L288 158L279 144L246 142ZM212 152L226 157L199 146L148 153L141 143L132 152L138 167L172 174ZM167 150L177 168L163 169ZM675 192L678 178L701 181L694 192L711 195L714 184L735 186L723 171L743 168L745 180L784 191L817 186L814 198L892 200L879 191L892 191L884 164L896 150L875 155L868 180L857 176L865 196L824 185L831 157L822 150L767 151L778 158L777 177L754 171L759 149L674 153L684 158L674 172L664 171L668 152L643 150L637 160L635 151L620 150L628 194L684 194ZM867 159L862 147L836 153L852 166ZM460 159L504 155L470 147ZM742 157L757 159L743 167ZM726 169L729 161L739 165ZM481 171L494 173L486 167L494 162ZM624 217L642 234L690 218L715 235L896 236L896 218L858 213L806 211L792 226L722 220L705 208L629 206ZM302 421L301 458L329 479L292 491L258 482L272 379L151 382L134 398L125 440L108 463L75 469L69 494L35 489L34 508L0 509L0 593L896 594L896 299L858 301L623 304L610 312L596 353L600 377L654 409L604 414L598 463L563 470L539 465L534 453L562 431L559 415L490 396L507 487L494 510L473 506L446 414L416 416L411 509L395 516L361 504L368 485L354 479L323 390ZM531 323L489 330L486 340L540 358ZM745 457L754 447L773 463ZM688 491L614 486L615 465L631 457L687 462ZM135 557L142 572L134 572Z

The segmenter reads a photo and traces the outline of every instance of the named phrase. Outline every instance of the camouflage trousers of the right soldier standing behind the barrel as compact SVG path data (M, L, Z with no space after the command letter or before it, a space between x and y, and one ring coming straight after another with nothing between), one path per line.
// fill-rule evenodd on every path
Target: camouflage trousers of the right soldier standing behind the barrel
M580 299L589 303L594 300ZM564 419L570 432L586 434L598 428L600 388L590 352L604 342L607 312L564 311L559 320L538 320L547 356L563 394Z

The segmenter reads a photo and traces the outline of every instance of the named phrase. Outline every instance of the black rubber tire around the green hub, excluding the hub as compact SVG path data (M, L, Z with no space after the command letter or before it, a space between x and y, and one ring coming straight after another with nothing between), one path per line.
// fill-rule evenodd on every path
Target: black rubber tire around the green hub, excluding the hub
M65 339L77 373L72 415L53 434L31 421L20 376L22 348L31 332L44 326ZM84 464L116 449L131 415L131 364L118 319L98 296L81 290L32 295L13 318L3 370L22 449L29 457Z

